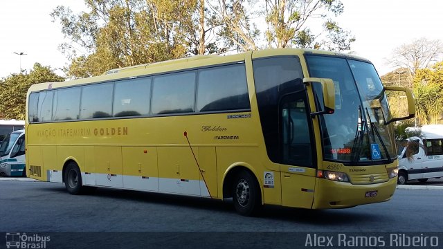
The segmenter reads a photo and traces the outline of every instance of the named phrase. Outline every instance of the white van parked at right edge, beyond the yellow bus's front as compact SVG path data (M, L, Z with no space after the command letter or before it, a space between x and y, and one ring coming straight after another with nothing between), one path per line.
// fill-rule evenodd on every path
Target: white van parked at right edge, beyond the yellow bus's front
M408 138L406 146L400 147L399 152L399 185L413 179L424 183L428 178L442 177L443 124L423 126L420 137Z

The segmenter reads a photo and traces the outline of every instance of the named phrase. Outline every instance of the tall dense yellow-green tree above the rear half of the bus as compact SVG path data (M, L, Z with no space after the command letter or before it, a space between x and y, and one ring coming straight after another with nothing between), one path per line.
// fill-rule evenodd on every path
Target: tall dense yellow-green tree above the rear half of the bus
M65 6L51 13L73 44L61 44L72 64L69 77L100 75L111 68L183 57L197 0L84 0L89 12ZM193 30L195 32L195 30ZM80 46L80 49L75 47Z

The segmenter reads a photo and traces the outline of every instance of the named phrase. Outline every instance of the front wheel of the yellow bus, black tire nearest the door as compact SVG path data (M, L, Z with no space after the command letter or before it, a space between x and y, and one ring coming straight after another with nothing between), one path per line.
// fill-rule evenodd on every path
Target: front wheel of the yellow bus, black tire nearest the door
M244 216L257 214L262 207L260 185L251 173L241 171L235 176L233 202L235 210Z

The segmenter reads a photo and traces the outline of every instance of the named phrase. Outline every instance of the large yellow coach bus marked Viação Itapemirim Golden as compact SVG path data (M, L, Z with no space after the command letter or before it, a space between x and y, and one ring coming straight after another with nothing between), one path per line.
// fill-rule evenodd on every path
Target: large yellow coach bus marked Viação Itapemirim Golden
M406 93L408 117L386 91ZM26 169L71 194L93 187L326 209L388 201L392 121L410 91L366 59L319 50L201 55L34 84Z

